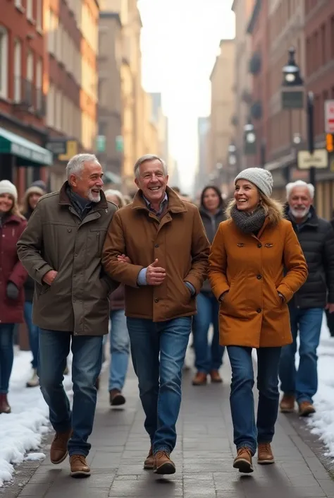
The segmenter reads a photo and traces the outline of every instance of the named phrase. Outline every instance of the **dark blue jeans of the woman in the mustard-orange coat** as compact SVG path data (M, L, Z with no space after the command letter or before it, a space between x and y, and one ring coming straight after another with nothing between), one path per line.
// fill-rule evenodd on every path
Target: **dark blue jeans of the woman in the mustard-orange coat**
M228 346L232 367L230 407L233 421L233 440L237 449L247 446L252 453L259 443L271 443L278 414L278 365L281 348L259 348L257 379L259 405L254 415L254 371L252 348Z

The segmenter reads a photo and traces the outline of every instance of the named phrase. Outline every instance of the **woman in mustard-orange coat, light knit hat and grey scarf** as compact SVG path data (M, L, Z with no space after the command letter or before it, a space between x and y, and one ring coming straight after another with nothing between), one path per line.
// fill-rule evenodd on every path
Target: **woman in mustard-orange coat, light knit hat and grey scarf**
M220 343L232 367L230 407L237 456L233 467L253 471L273 463L280 349L292 343L287 302L307 278L307 263L283 206L273 201L273 178L248 168L235 178L234 200L211 246L209 280L220 301ZM257 352L259 406L254 416L252 348Z

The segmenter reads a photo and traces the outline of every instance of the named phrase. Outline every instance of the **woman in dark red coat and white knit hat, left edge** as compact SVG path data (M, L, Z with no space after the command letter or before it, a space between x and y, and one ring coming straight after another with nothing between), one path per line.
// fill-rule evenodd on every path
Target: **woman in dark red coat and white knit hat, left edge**
M18 209L16 186L0 182L0 413L11 413L7 393L13 367L15 324L23 322L27 272L18 260L16 242L27 221Z

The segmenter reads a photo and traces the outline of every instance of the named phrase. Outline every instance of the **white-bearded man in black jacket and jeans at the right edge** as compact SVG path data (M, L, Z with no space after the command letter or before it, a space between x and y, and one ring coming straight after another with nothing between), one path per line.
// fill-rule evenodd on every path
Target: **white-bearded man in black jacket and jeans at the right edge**
M299 415L315 412L313 396L318 389L316 350L320 340L323 310L334 312L334 231L318 218L314 206L314 186L298 180L287 184L287 218L297 233L309 267L309 276L289 303L293 343L282 349L280 381L284 393L283 413L292 412L295 401ZM295 353L299 331L299 367Z

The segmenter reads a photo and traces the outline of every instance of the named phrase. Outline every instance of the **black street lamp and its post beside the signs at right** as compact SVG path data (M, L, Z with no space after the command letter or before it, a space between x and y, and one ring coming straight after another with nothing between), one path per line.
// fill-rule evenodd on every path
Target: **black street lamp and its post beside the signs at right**
M283 66L282 107L283 109L302 109L304 107L304 81L295 61L295 48L289 49L287 64ZM314 153L314 94L307 93L307 148ZM290 172L286 175L290 179ZM316 168L309 169L309 182L316 188Z

